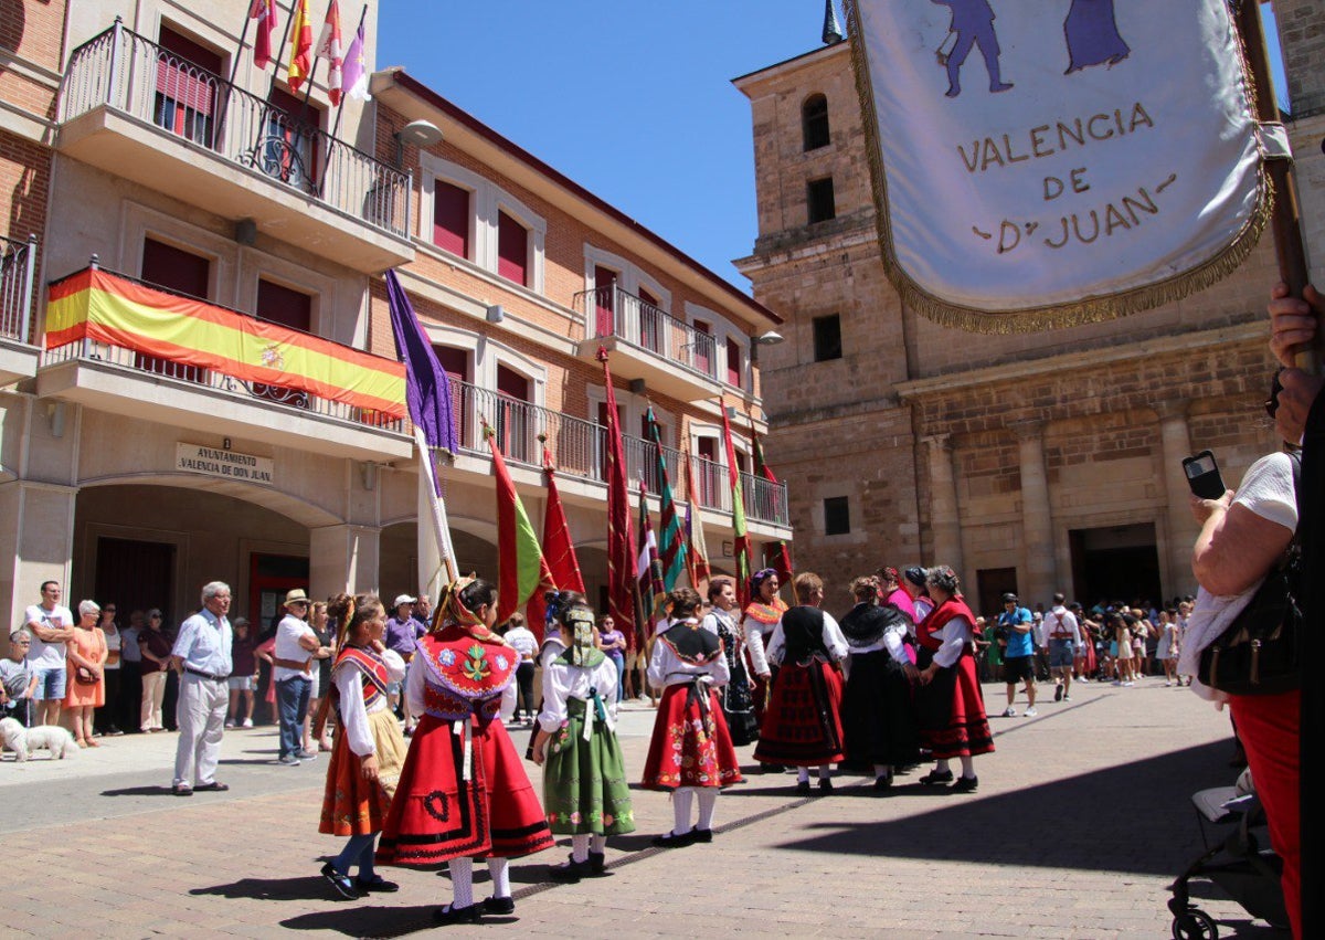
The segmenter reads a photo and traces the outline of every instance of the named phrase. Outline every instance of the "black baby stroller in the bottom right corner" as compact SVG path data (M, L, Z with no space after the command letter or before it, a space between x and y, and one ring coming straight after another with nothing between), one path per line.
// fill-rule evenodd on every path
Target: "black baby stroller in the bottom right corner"
M1215 919L1190 902L1187 882L1203 878L1223 888L1253 917L1260 917L1279 929L1288 929L1284 891L1280 887L1283 863L1265 835L1265 810L1255 793L1239 795L1235 786L1216 786L1192 794L1200 839L1206 846L1195 862L1169 886L1173 898L1174 940L1216 940L1219 925ZM1210 829L1236 823L1227 837L1211 845Z

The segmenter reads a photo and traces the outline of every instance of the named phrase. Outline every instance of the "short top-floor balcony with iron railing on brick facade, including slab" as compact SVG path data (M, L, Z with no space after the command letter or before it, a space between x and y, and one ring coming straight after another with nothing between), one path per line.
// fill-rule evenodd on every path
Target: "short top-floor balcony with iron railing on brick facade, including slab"
M615 353L612 373L620 378L643 379L647 388L682 402L719 394L718 347L708 333L615 281L575 294L574 302L586 323L580 358L592 359L603 346Z

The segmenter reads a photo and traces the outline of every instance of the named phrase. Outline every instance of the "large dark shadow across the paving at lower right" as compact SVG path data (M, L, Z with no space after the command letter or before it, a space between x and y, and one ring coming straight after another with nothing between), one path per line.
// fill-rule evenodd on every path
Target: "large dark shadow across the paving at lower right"
M1063 745L1071 744L1065 736ZM934 788L941 807L902 819L815 823L820 834L779 849L1177 876L1200 849L1190 795L1230 778L1227 756L1227 741L1215 741L991 797ZM975 768L996 773L996 761L980 757ZM934 789L904 785L881 802Z

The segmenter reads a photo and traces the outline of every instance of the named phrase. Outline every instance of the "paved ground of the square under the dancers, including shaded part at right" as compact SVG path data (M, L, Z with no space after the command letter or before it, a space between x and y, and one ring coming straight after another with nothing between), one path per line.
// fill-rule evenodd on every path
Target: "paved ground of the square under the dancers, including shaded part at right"
M445 931L429 913L450 886L433 872L388 870L399 894L331 899L317 874L341 845L317 834L326 761L277 766L270 728L227 732L231 792L188 799L168 793L172 734L105 738L64 762L5 754L0 924L41 937L1166 937L1166 886L1202 849L1190 795L1235 776L1228 719L1157 679L1073 692L1043 695L1035 719L991 719L998 752L977 760L970 795L922 793L917 772L886 798L852 776L798 798L795 777L749 766L718 801L712 845L655 850L670 805L636 790L640 831L610 843L608 878L546 882L564 847L517 859L515 915ZM986 700L1002 712L1003 687ZM632 774L652 720L647 703L623 711ZM527 731L513 733L522 748ZM1285 936L1214 886L1194 894L1224 936Z

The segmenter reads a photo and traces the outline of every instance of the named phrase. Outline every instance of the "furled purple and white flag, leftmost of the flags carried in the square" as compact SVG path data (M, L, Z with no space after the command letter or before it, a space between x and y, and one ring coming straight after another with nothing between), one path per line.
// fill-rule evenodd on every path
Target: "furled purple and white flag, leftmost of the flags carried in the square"
M396 351L405 363L405 404L409 420L413 423L413 438L419 445L419 464L427 481L432 534L441 556L441 565L424 578L432 593L432 582L445 573L445 583L457 577L456 548L450 542L450 525L447 520L447 502L441 480L433 464L436 451L458 449L456 420L450 408L450 382L447 370L437 362L428 337L419 325L409 296L400 286L396 272L387 272L387 304L391 308L391 331L396 338Z

